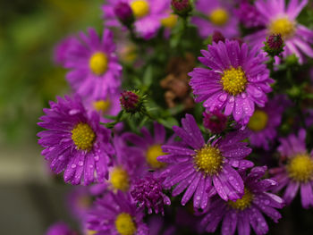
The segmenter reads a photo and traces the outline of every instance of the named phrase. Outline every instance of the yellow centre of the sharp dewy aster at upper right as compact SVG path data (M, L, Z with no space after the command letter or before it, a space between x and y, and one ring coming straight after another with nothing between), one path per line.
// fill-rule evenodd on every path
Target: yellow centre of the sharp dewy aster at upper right
M237 69L231 67L230 69L224 71L221 82L223 84L224 91L232 96L236 96L241 94L241 92L246 89L248 81L241 67L238 67Z

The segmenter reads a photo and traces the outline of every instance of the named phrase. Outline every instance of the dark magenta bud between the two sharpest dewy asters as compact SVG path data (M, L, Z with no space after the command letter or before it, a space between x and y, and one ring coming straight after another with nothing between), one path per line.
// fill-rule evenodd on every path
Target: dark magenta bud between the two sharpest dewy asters
M203 113L203 126L212 133L221 133L227 125L227 117L215 110L211 113Z

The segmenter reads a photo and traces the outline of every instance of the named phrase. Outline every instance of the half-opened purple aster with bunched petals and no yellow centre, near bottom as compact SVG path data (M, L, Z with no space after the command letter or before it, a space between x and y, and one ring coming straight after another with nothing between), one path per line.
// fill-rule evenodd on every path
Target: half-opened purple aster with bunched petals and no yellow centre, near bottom
M171 205L170 198L163 193L163 180L151 174L135 180L132 184L131 197L139 203L140 207L147 206L148 214L152 214L154 210L156 214L161 212L164 215L164 206Z

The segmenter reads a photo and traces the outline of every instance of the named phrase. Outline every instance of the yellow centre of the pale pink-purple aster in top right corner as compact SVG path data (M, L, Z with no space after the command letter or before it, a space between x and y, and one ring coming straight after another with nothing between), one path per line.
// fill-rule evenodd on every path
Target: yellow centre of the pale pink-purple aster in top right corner
M295 31L295 22L287 17L278 18L268 26L270 34L280 34L283 38L291 38Z

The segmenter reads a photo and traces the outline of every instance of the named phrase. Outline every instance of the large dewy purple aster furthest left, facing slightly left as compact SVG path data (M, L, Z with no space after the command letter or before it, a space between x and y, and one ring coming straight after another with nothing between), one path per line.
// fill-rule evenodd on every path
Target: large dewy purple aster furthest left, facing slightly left
M99 115L88 115L80 97L57 97L44 109L38 125L41 152L55 173L64 171L65 182L88 185L108 177L112 147L110 130L99 124Z

